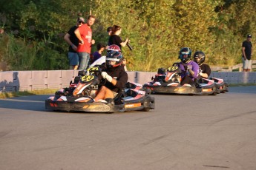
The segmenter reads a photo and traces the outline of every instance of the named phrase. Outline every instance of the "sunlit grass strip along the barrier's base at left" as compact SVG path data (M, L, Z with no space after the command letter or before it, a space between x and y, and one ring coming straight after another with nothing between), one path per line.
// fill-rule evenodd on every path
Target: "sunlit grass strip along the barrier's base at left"
M0 98L14 98L26 95L50 95L54 94L57 89L40 89L33 91L22 91L22 92L0 92Z

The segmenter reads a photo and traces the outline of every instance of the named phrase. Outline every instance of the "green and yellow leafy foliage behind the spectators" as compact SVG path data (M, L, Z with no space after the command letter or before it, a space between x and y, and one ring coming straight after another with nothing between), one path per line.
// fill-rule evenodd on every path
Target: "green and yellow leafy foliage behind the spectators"
M209 64L237 64L246 34L256 35L254 0L0 1L0 61L16 70L68 69L63 36L77 16L89 14L96 15L96 44L108 42L107 27L122 27L134 47L123 50L129 70L168 67L181 47L203 50Z

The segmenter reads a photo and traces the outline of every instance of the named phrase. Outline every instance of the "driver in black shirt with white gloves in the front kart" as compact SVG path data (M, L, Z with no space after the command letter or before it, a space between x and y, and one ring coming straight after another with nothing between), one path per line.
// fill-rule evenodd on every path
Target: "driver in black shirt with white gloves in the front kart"
M122 64L122 54L120 52L114 50L108 52L106 66L106 69L102 70L102 78L106 79L106 83L99 88L94 101L113 99L128 81L128 74Z

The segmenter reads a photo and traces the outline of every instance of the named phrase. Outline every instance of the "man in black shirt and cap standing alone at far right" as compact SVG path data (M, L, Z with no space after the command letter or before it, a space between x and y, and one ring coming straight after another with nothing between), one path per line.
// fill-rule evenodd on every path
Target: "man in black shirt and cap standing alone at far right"
M250 72L252 67L252 35L247 35L246 41L243 41L242 44L243 52L243 72Z

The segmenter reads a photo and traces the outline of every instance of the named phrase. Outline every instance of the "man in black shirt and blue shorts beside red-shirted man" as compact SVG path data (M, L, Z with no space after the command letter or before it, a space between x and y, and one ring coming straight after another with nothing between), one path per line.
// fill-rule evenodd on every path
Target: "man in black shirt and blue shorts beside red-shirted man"
M79 64L79 56L76 52L79 40L76 37L74 31L82 26L82 24L85 24L85 19L82 17L77 18L76 25L71 27L68 33L65 34L64 39L67 41L67 43L70 45L68 47L68 60L70 69L77 69Z

